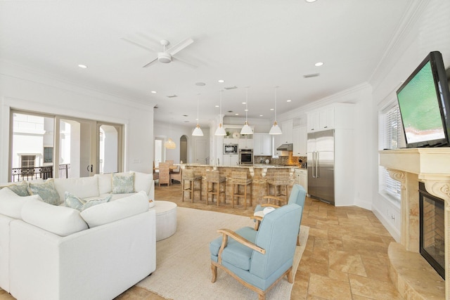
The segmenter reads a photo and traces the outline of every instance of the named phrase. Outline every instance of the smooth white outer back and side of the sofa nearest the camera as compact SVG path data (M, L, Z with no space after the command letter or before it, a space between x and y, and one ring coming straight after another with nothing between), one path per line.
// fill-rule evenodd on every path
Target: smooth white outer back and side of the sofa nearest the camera
M60 237L11 223L17 299L113 299L156 268L155 211Z

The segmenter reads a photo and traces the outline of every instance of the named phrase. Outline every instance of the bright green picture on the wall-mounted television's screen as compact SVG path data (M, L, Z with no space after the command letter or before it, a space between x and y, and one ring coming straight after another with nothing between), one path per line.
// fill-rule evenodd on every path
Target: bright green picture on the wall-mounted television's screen
M431 63L426 63L397 95L406 141L417 143L445 138ZM420 101L411 99L418 98Z

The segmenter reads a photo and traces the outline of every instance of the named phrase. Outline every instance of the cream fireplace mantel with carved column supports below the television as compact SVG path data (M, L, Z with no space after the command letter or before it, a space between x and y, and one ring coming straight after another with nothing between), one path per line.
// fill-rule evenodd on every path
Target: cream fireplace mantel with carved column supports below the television
M428 193L444 200L445 278L450 278L450 148L383 150L380 166L401 183L401 244L409 252L419 252L418 182ZM445 282L445 299L450 299L450 280Z

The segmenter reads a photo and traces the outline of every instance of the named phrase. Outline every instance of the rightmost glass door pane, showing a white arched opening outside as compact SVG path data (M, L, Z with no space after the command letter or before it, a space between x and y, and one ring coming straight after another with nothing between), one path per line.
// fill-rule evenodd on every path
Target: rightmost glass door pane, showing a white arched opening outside
M119 171L120 136L115 126L101 125L98 132L98 172L114 173Z

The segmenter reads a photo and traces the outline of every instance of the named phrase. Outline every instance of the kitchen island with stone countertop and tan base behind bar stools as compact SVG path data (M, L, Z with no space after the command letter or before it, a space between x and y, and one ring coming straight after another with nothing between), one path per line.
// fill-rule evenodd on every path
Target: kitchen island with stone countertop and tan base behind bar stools
M271 178L275 173L285 172L290 176L290 188L295 182L294 171L300 166L290 165L272 165L272 164L252 164L248 166L214 166L210 164L181 164L181 169L193 169L195 174L202 176L202 201L206 203L207 183L206 172L219 170L221 177L226 178L226 203L231 203L231 173L233 171L246 172L248 178L252 178L252 205L250 209L254 209L257 204L263 202L262 197L267 195L267 178ZM194 200L195 201L195 200ZM215 201L215 200L214 200ZM221 203L220 203L221 204Z

